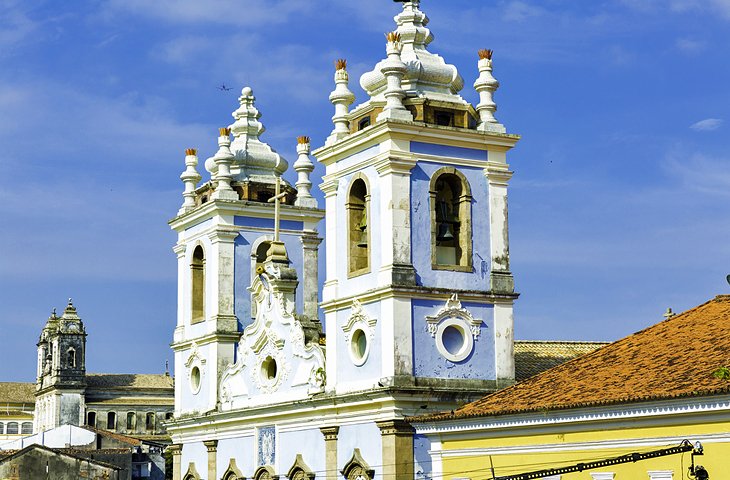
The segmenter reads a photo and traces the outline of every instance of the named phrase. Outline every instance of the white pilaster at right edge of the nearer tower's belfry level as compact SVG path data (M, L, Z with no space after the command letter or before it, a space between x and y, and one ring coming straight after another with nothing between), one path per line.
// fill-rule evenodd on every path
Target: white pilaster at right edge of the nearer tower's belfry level
M509 265L509 226L507 215L507 185L512 172L507 165L507 153L489 151L484 175L489 183L489 237L491 272L489 288L492 293L512 294L515 282Z

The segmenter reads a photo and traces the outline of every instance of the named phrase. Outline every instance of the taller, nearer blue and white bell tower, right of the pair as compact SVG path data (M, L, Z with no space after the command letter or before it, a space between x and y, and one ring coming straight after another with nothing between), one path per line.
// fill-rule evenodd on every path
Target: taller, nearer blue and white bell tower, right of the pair
M514 380L507 152L492 52L478 52L473 107L428 50L420 1L404 1L385 58L354 109L338 60L325 165L328 388L487 391ZM475 52L477 53L477 52Z

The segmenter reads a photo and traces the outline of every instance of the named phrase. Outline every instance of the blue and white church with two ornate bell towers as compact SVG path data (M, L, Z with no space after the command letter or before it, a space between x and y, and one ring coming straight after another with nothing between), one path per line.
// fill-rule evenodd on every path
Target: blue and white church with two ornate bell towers
M334 129L313 152L324 205L309 138L289 185L248 87L204 162L210 181L186 152L170 222L176 480L410 480L430 460L405 417L514 381L506 156L519 137L494 116L492 52L479 52L474 107L428 50L420 2L395 21L355 108L336 64Z

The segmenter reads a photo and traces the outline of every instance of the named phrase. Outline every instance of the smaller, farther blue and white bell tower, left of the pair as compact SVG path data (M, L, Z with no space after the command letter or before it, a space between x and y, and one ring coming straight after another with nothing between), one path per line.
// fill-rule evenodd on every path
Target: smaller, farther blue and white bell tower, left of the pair
M277 210L271 200L279 190L281 246L287 264L300 272L292 304L308 335L318 338L321 331L317 259L322 239L317 224L324 212L310 193L310 141L297 139L294 189L281 178L287 161L259 138L265 129L254 102L251 88L244 88L233 124L220 129L218 151L205 161L209 181L198 185L197 150L186 151L184 201L170 221L178 234L173 341L178 415L207 412L220 404L223 370L235 363L241 332L256 317L250 287L271 254Z

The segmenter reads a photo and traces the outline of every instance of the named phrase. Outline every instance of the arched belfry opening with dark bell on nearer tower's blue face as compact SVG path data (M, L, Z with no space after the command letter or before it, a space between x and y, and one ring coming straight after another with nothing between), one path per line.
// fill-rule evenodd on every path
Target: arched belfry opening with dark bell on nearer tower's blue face
M453 167L431 178L431 263L436 269L471 271L471 189Z

